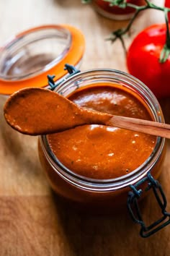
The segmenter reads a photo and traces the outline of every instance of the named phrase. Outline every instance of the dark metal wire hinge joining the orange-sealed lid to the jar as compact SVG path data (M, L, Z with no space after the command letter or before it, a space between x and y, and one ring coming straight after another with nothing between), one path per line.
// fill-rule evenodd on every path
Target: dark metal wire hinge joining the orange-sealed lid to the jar
M69 74L63 80L66 80L68 77L71 77L73 74L77 74L80 72L79 69L77 69L76 67L74 67L73 65L70 65L70 64L65 64L64 69L67 70ZM61 82L63 82L63 80L61 80L61 81L55 83L54 78L55 78L55 75L48 74L48 85L50 86L50 90L55 90L55 88L58 85L60 85Z

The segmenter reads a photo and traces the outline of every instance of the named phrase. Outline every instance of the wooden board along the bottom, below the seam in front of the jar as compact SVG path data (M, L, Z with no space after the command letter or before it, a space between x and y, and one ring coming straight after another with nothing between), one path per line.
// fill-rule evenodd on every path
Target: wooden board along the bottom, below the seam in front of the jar
M0 197L1 255L169 255L169 227L141 239L126 210L85 215L55 195ZM141 203L146 221L158 214L151 196Z

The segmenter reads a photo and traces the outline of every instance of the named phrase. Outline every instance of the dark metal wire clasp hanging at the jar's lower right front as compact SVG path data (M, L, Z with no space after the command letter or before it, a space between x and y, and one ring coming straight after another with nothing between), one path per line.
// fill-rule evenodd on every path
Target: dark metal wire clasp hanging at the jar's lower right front
M146 187L145 191L153 189L153 194L156 197L159 207L161 208L162 217L157 221L153 222L150 226L146 226L143 221L143 218L140 213L140 208L138 205L138 199L143 193L142 189L138 189L138 187L144 182L148 182L148 187ZM151 176L150 173L137 182L135 185L130 185L132 191L128 193L128 210L131 218L135 223L140 224L140 236L146 238L156 233L158 230L164 228L170 223L170 213L166 212L166 196L164 195L161 184ZM166 220L167 219L167 220Z

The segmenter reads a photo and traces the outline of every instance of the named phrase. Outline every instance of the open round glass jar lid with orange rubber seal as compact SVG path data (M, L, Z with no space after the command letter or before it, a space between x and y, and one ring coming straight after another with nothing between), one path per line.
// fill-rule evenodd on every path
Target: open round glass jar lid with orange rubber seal
M43 25L19 33L0 48L0 94L48 86L67 74L66 63L78 67L84 55L84 35L71 25Z

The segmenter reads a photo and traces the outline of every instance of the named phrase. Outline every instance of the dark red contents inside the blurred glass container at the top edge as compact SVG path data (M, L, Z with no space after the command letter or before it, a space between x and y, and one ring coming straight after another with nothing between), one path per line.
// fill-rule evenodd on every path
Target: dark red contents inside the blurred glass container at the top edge
M146 4L143 0L127 0L130 4L135 4L138 6ZM94 3L105 12L109 12L111 14L130 14L135 12L135 9L132 7L120 8L120 7L111 7L110 3L104 0L95 0Z

